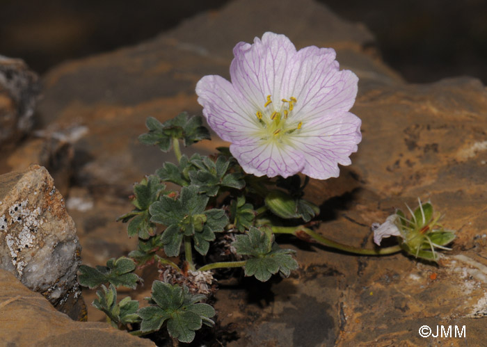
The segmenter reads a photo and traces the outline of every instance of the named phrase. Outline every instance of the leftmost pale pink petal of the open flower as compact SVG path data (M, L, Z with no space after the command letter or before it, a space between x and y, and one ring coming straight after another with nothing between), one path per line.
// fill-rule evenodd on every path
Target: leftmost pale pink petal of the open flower
M232 83L221 76L204 76L196 85L203 115L218 136L229 142L246 140L255 132L255 111L242 101Z

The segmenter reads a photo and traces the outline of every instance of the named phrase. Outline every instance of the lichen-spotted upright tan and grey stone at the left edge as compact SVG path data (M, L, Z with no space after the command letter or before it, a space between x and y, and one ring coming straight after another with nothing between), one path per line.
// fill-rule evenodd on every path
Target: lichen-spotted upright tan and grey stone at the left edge
M81 245L49 172L1 175L0 201L0 268L58 308L76 302Z

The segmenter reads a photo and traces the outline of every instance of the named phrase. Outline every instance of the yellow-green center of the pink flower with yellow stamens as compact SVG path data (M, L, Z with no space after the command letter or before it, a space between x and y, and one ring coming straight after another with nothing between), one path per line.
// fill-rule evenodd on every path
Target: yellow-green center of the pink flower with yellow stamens
M289 100L282 99L280 108L272 102L271 95L267 95L267 101L264 108L257 111L257 121L260 125L259 136L266 142L286 143L289 134L299 131L303 122L292 120L292 111L294 104L298 102L295 97L289 97Z

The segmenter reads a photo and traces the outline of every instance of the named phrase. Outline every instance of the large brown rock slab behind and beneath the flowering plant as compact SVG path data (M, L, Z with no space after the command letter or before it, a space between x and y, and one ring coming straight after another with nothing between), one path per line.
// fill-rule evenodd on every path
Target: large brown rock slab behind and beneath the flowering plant
M270 15L272 13L272 15ZM172 155L137 143L148 115L168 120L201 113L195 83L228 76L232 48L264 31L285 33L296 47L335 47L342 67L360 78L352 109L363 140L340 177L311 180L307 197L321 207L318 232L372 248L370 226L394 208L431 200L458 238L439 266L402 254L356 257L281 237L297 250L292 277L260 284L221 282L218 321L238 336L229 346L483 346L487 315L487 90L473 78L408 85L381 63L367 29L338 19L311 0L237 0L199 15L149 42L65 63L51 70L40 103L44 126L80 124L73 143L70 213L83 261L104 264L136 240L115 218L131 210L131 184ZM61 126L60 125L60 126ZM212 152L221 140L195 149ZM150 292L154 273L143 274ZM132 295L132 294L131 294ZM93 291L86 291L88 301ZM90 320L102 319L88 309ZM422 325L465 325L466 337L423 339Z

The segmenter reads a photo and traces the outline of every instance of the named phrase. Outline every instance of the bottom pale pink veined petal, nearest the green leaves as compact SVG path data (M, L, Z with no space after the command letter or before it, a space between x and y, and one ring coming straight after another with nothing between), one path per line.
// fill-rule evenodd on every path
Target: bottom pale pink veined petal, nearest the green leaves
M247 145L230 145L232 156L239 161L245 172L255 176L289 177L300 172L304 166L301 152L289 146L276 146L253 141Z

